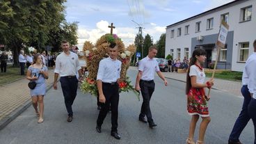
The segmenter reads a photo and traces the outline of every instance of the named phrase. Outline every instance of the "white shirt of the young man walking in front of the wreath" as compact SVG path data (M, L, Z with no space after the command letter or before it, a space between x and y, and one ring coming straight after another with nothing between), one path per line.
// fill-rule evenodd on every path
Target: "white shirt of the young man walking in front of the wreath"
M104 83L116 82L120 78L122 62L116 59L104 58L99 62L99 70L97 73L97 80Z

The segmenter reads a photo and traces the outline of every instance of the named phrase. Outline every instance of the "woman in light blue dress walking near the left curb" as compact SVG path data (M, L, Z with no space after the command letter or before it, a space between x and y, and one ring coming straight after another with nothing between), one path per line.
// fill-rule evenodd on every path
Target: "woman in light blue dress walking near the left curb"
M30 95L35 113L38 115L38 123L42 123L44 121L44 96L46 92L45 79L48 79L49 77L47 70L47 67L42 65L42 57L39 54L36 54L33 57L33 65L30 65L26 72L26 79L35 81L36 83L35 88L30 90Z

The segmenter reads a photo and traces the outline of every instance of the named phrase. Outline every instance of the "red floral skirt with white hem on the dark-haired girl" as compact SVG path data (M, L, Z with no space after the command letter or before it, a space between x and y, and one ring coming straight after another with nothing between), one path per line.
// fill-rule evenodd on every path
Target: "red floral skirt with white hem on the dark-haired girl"
M187 100L187 111L189 115L209 116L204 88L191 88L187 95Z

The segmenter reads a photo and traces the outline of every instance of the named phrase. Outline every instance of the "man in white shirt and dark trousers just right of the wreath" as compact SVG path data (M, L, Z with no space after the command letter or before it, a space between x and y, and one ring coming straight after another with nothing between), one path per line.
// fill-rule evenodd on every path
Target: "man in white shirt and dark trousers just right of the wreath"
M165 86L167 86L167 81L163 74L159 70L159 65L154 57L157 55L157 47L151 46L147 57L143 58L138 66L138 75L136 78L136 90L141 90L143 97L143 103L141 106L141 113L138 116L138 120L149 124L150 128L157 127L152 119L152 114L150 111L150 99L154 92L154 72L157 72L158 76L163 79ZM147 120L145 120L145 115Z

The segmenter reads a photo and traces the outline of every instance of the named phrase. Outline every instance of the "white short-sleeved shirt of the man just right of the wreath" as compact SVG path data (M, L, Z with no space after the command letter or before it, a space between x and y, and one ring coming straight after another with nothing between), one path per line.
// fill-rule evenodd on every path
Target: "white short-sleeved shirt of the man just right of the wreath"
M143 58L139 65L138 70L143 72L141 79L144 81L151 81L154 79L154 72L159 72L159 65L154 58L150 59L148 56Z

